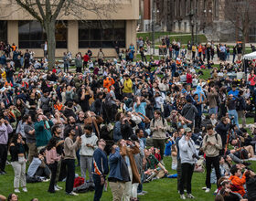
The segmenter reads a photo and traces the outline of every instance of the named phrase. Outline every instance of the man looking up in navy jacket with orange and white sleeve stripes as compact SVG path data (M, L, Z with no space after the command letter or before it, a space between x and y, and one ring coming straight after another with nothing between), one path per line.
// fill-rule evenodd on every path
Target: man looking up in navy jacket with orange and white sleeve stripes
M103 186L106 183L106 176L109 174L108 158L104 152L106 142L103 139L100 139L97 142L97 145L98 148L93 153L91 165L91 173L95 185L93 201L100 201Z

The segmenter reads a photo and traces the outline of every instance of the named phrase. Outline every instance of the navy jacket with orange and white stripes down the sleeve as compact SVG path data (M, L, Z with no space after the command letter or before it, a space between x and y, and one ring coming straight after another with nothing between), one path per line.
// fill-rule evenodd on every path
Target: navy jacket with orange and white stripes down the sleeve
M93 153L91 172L94 175L108 175L109 174L109 164L108 164L107 155L100 148L96 149Z

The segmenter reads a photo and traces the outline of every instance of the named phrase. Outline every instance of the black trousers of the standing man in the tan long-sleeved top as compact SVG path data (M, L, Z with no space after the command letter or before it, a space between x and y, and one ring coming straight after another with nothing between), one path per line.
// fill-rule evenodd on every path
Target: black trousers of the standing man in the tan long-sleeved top
M75 159L65 159L67 164L67 178L66 178L66 193L73 191L73 185L75 181Z

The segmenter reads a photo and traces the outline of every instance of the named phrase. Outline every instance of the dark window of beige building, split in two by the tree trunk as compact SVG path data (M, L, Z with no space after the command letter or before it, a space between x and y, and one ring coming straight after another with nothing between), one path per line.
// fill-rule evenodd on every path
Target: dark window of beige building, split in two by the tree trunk
M68 28L67 21L56 23L55 38L56 48L67 48ZM37 21L18 22L19 48L42 48L47 40L47 35L41 24Z

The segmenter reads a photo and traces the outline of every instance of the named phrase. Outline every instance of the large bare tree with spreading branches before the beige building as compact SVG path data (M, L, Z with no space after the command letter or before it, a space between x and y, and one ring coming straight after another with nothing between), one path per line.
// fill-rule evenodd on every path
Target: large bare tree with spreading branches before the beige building
M48 66L55 65L56 22L62 16L75 16L78 19L86 17L88 12L98 17L114 12L117 2L121 0L8 0L9 5L27 11L46 31L48 41Z

